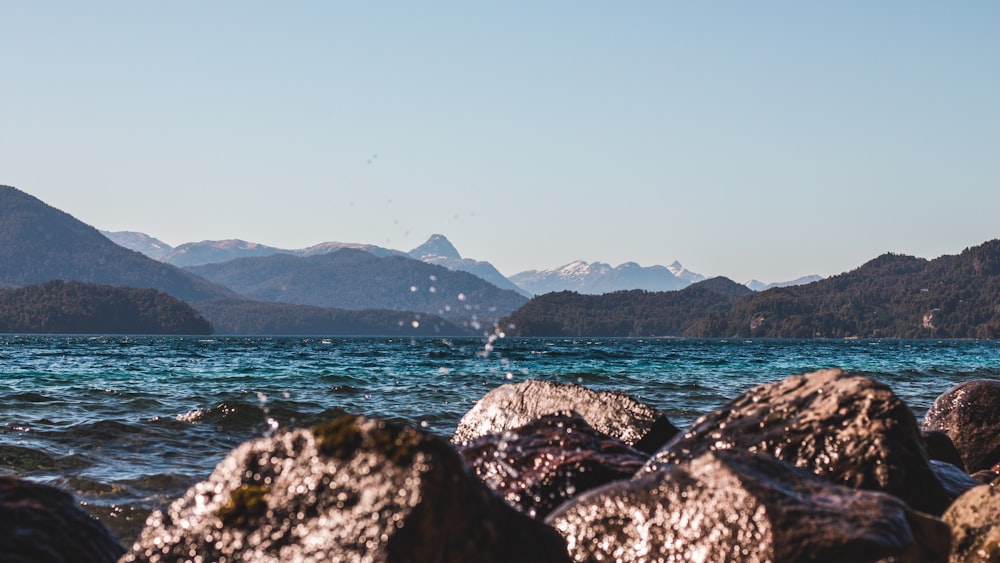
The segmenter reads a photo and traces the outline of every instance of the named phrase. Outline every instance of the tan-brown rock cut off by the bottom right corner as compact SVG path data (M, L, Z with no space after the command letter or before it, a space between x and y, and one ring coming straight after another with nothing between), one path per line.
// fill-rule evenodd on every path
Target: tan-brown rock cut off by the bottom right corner
M1000 561L1000 489L980 485L942 517L951 526L953 563Z

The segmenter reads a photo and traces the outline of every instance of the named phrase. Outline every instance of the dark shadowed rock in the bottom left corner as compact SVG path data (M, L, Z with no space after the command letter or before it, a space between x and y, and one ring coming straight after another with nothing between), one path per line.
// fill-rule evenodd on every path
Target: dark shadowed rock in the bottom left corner
M69 493L0 477L0 561L110 563L124 552Z

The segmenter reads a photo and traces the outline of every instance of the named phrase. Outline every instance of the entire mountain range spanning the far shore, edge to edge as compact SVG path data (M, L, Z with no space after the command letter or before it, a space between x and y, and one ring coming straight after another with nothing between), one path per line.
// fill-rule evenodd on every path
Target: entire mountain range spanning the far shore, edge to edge
M176 250L145 235L129 236L147 252L167 256ZM46 310L56 313L87 305L94 308L86 310L114 315L125 305L152 302L152 294L114 290L129 287L182 300L226 334L468 335L499 323L514 335L1000 338L1000 240L934 260L889 253L844 274L760 292L726 278L699 279L676 263L612 268L576 262L533 275L536 280L593 275L605 289L615 287L607 282L615 276L623 284L632 276L633 282L687 285L601 295L563 290L530 300L459 271L460 265L485 263L462 258L440 235L408 253L340 243L309 252L272 252L239 242L195 246L266 255L178 268L0 186L0 289L52 280L91 284L9 293L14 297L6 311L20 318L25 311L18 303L26 295L33 296L35 310L55 303ZM121 305L123 300L130 303ZM145 307L133 312L144 315ZM173 315L165 305L153 309Z

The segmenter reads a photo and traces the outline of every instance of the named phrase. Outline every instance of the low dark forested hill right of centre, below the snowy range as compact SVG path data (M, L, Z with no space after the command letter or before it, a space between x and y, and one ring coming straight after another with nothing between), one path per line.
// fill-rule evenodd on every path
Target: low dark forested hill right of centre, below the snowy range
M535 297L502 323L517 336L682 336L705 316L728 313L752 293L727 278L678 291L560 291Z

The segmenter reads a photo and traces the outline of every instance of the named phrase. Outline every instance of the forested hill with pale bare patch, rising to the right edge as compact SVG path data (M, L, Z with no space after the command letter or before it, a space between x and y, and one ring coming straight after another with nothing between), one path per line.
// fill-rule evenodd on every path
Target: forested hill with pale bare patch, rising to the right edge
M850 272L764 291L706 336L1000 338L1000 240L925 260L884 254Z

